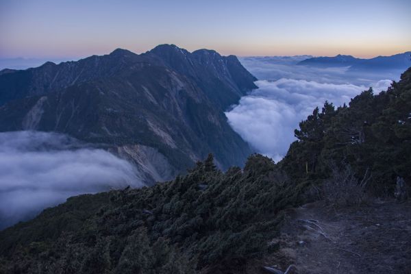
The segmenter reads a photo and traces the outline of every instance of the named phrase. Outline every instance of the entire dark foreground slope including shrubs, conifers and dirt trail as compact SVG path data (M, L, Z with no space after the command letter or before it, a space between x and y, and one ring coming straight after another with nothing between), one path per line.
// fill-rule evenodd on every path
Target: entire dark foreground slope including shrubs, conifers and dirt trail
M410 201L356 196L390 199L396 177L409 189L410 110L411 68L386 92L316 108L277 164L251 155L223 173L209 155L170 182L72 197L0 232L0 273L407 273ZM353 173L334 177L332 162Z

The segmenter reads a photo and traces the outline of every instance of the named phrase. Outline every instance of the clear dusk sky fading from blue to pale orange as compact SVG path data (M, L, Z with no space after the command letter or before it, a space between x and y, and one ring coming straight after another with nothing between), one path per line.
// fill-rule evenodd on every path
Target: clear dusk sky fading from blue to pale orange
M410 0L0 0L0 58L136 53L173 43L236 55L411 50Z

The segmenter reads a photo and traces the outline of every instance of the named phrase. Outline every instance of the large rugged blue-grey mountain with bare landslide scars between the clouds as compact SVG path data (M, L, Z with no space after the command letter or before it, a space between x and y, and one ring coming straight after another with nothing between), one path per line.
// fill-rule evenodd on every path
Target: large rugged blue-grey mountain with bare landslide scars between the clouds
M0 131L62 132L136 163L146 182L170 179L207 153L223 169L251 149L223 111L256 88L235 56L160 45L77 62L0 71Z

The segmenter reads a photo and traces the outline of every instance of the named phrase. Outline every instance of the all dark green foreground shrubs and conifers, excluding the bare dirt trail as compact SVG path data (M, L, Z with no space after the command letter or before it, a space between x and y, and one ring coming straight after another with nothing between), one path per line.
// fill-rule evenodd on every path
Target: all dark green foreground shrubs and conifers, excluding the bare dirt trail
M72 197L0 233L0 272L243 273L277 249L282 211L325 198L338 175L379 197L397 177L409 186L410 112L408 69L379 95L316 108L277 164L255 154L223 173L209 155L171 182Z

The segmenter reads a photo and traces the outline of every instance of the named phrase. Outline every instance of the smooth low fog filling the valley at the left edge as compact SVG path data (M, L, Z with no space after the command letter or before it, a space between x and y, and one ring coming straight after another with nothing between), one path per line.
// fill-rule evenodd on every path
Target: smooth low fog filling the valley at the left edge
M126 186L143 184L108 151L63 134L0 133L0 229L68 197Z

